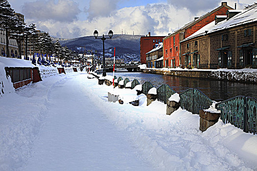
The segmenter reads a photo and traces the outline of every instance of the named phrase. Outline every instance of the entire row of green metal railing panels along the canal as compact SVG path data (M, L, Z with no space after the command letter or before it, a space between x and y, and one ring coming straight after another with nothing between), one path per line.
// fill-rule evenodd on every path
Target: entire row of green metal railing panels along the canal
M118 78L118 83L122 80ZM124 80L124 87L129 82ZM133 80L132 88L139 85L138 80ZM142 85L142 92L146 95L153 88L150 82ZM175 91L169 85L161 85L157 89L157 100L167 104L167 100ZM197 88L189 88L180 93L180 106L192 113L198 113L201 109L207 109L213 101ZM216 108L221 110L221 119L225 124L231 123L244 132L256 134L257 132L257 99L247 96L236 96L216 104Z

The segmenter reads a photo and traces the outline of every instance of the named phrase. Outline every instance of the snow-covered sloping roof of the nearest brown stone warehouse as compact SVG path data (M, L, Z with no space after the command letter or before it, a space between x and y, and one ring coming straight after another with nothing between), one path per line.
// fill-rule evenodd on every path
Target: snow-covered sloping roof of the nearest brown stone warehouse
M237 25L247 24L257 21L257 4L252 5L250 8L244 9L243 12L233 16L230 20L220 21L215 25L215 21L210 22L206 26L199 29L197 32L182 40L181 42L190 40L192 38L210 34L223 29L235 27ZM207 33L206 33L207 32Z

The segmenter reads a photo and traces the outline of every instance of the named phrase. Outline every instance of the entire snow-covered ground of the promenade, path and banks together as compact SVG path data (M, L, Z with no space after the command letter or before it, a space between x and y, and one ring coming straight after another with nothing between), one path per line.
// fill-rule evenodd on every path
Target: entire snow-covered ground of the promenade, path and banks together
M255 171L257 136L146 96L98 85L85 72L45 78L0 97L0 171Z

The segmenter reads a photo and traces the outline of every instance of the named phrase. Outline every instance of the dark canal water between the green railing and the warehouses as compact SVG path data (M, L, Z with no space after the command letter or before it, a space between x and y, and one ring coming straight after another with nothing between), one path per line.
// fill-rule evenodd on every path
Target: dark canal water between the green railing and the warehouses
M113 73L107 73L112 75ZM211 100L220 102L237 95L257 98L257 85L216 81L208 79L184 78L166 75L149 74L142 72L115 72L116 77L128 78L129 81L137 79L140 84L151 82L158 88L163 84L170 85L175 92L181 93L188 88L198 88Z

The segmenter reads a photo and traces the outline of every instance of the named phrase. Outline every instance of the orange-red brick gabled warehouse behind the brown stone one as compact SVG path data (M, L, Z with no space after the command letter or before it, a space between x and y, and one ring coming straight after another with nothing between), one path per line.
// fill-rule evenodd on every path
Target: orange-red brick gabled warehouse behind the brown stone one
M170 34L163 39L163 57L164 57L164 67L178 67L181 63L181 49L180 41L189 37L197 30L204 27L206 24L214 21L217 15L226 15L227 11L232 9L227 5L227 2L222 2L221 6L208 12L200 18L195 18L194 21L184 25L179 30ZM183 64L182 64L183 65Z

